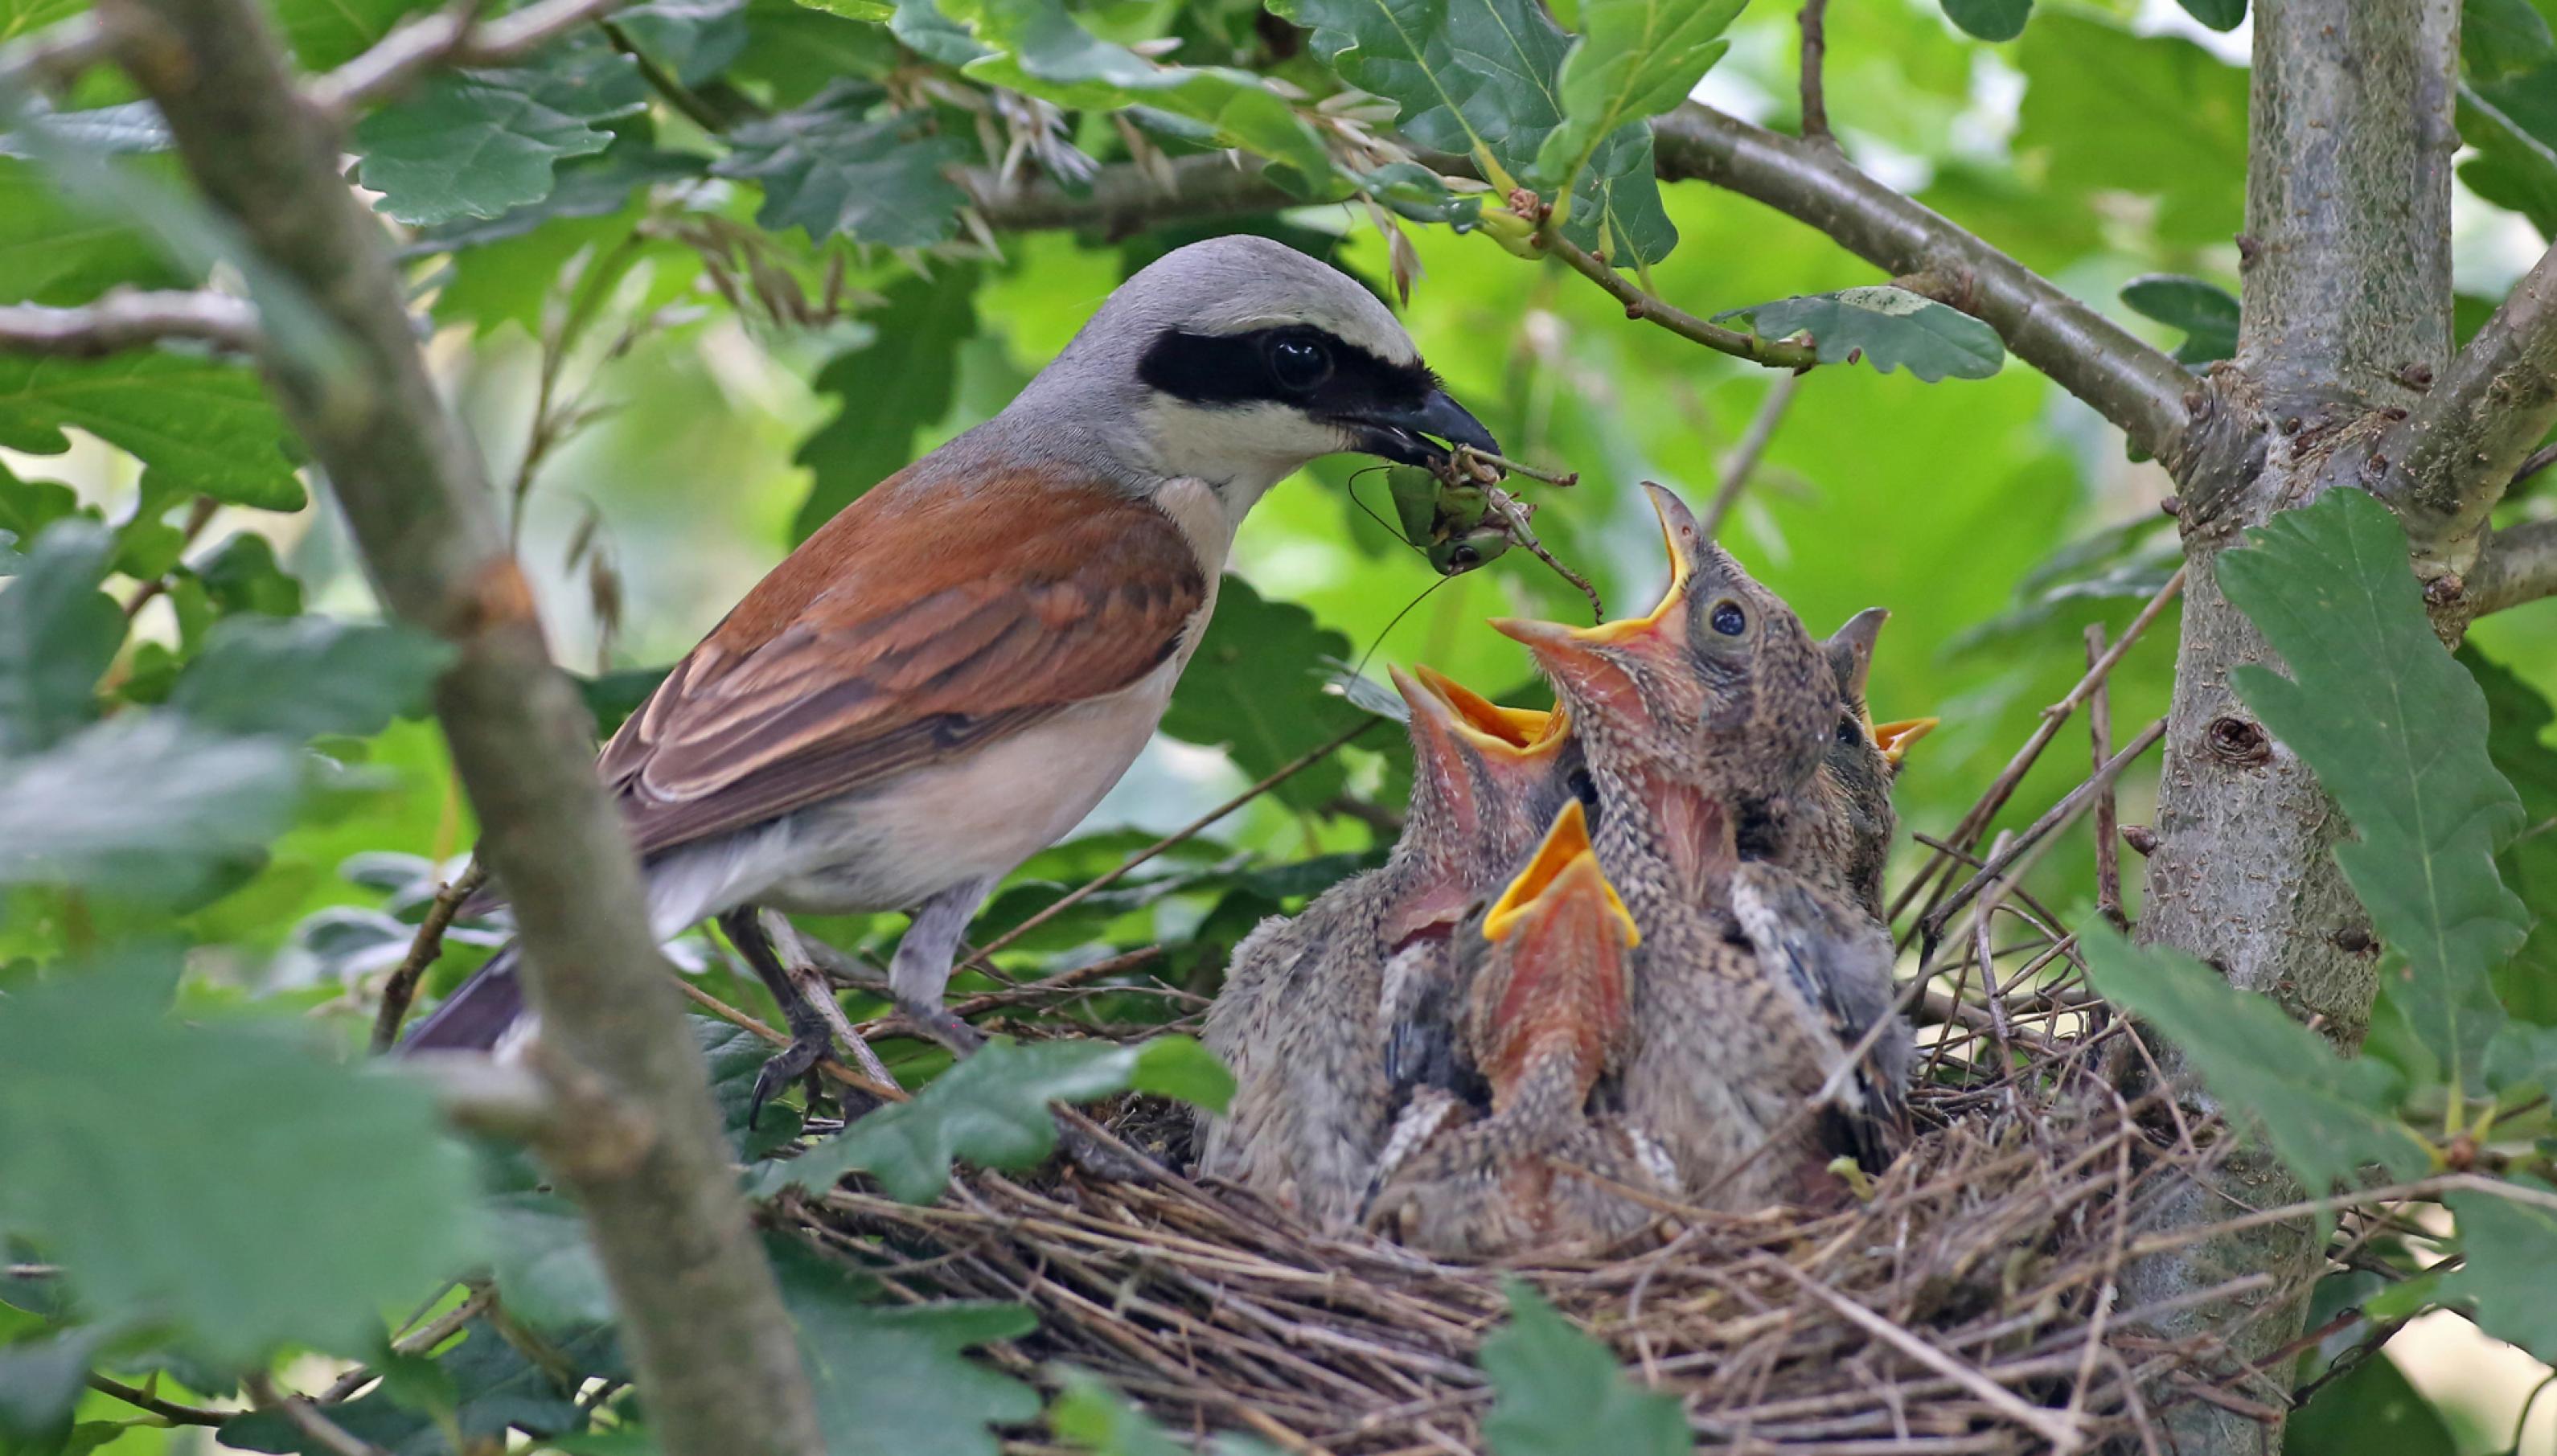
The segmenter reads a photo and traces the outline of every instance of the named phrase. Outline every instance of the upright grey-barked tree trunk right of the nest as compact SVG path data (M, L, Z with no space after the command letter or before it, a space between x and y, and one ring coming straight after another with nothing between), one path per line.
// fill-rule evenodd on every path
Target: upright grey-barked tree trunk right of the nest
M2184 461L2184 640L2148 860L2140 939L2214 965L2355 1049L2378 954L2332 844L2342 821L2317 778L2230 691L2242 663L2278 665L2219 591L2240 532L2370 471L2391 409L2450 363L2450 159L2457 0L2258 0L2248 235L2237 361L2214 371ZM2363 949L2347 949L2363 947ZM2173 1070L2173 1067L2171 1067ZM2199 1095L2196 1095L2199 1098ZM2260 1149L2232 1154L2168 1208L2181 1226L2299 1198ZM2196 1244L2130 1269L2122 1302L2209 1290L2240 1272L2268 1295L2161 1320L2204 1338L2258 1400L2289 1400L2319 1249L2306 1223ZM2184 1402L2189 1456L2278 1451L2281 1428Z

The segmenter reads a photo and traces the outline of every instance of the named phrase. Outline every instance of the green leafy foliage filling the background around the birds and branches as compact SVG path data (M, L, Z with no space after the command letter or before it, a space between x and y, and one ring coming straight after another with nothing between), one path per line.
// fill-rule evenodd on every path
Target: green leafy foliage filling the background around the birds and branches
M79 8L0 0L0 41ZM309 69L350 59L414 8L274 3ZM1248 146L1299 179L1340 166L1325 146L1337 138L1317 136L1258 77L1330 92L1325 64L1345 36L1373 28L1371 13L1330 0L1278 10L1304 31L1240 0L1071 13L1020 0L944 0L938 10L921 0L652 0L621 15L619 46L588 33L519 64L440 77L361 120L355 182L407 238L437 325L437 374L509 494L555 650L593 681L606 722L793 540L992 415L1128 271L1227 228L1276 233L1378 292L1406 281L1404 317L1452 392L1514 455L1583 473L1575 491L1529 491L1544 507L1547 545L1611 604L1657 589L1657 537L1634 481L1708 496L1772 376L1629 325L1560 266L1437 225L1470 223L1473 200L1365 156L1353 171L1391 233L1355 202L1125 238L979 238L969 228L967 197L944 169L1007 154L1033 177L1066 182L1092 161L1156 161L1212 143ZM1450 0L1437 10L1463 33L1493 8ZM1555 10L1593 36L1639 36L1644 20L1644 5L1606 0ZM1708 10L1729 20L1729 8L1680 8ZM1885 182L2184 358L2219 358L2240 284L2240 15L2202 0L1841 5L1828 26L1831 120ZM2557 233L2549 18L2552 0L2468 5L2462 333ZM1698 315L1877 281L1754 202L1642 182L1634 151L1647 141L1626 131L1629 118L1698 84L1698 72L1713 105L1777 128L1798 120L1790 10L1752 8L1721 41L1711 23L1695 26L1647 51L1639 74L1565 67L1562 36L1534 31L1534 64L1555 77L1555 97L1491 87L1437 113L1406 100L1406 136L1465 154L1486 174L1570 182L1573 235L1613 243L1616 261L1644 264L1657 294ZM1158 38L1179 41L1174 69L1128 49ZM1723 41L1729 54L1716 56ZM1350 79L1378 92L1409 84L1358 67L1345 64ZM992 107L987 84L1013 90L1007 110ZM130 100L95 74L49 131L54 143L0 141L0 302L69 305L118 281L205 271L202 248L166 246L192 223L176 194L95 207L113 200L113 179L171 174ZM1115 118L1112 107L1135 110ZM77 156L61 138L79 141ZM102 154L123 161L110 171ZM455 156L473 164L453 166ZM2158 512L2166 476L2127 461L2117 432L2038 374L2012 361L1987 379L1920 384L1913 374L1826 366L1805 376L1726 540L1815 629L1861 606L1892 609L1872 699L1877 716L1943 719L1900 786L1902 821L1941 832L2038 709L2076 681L2081 627L2120 629L2166 578L2173 537ZM1519 650L1481 619L1573 614L1573 589L1521 553L1442 583L1368 514L1391 519L1386 481L1353 479L1353 468L1317 463L1253 514L1235 550L1248 589L1227 591L1166 737L1076 839L1023 870L979 937L1355 727L1358 709L1319 691L1332 660L1373 653L1371 678L1386 660L1424 660L1488 691L1532 681ZM2552 481L2542 476L2537 496L2506 512L2544 514ZM0 1141L13 1149L0 1228L61 1226L66 1210L46 1198L84 1187L120 1190L133 1215L87 1231L87 1267L130 1269L82 1282L82 1323L69 1333L56 1333L54 1315L69 1310L49 1305L59 1292L43 1279L0 1287L0 1415L41 1407L64 1372L92 1366L130 1384L156 1379L174 1400L217 1392L225 1369L281 1343L279 1369L302 1389L330 1379L322 1356L376 1361L384 1387L340 1415L396 1451L445 1451L506 1423L578 1425L575 1407L486 1315L458 1323L460 1343L432 1361L381 1351L381 1323L361 1318L373 1308L399 1320L432 1274L486 1256L509 1318L540 1328L583 1374L616 1369L596 1325L601 1287L565 1208L488 1149L476 1154L483 1192L473 1192L455 1172L473 1151L440 1141L414 1095L348 1072L381 977L437 875L468 852L473 824L437 734L414 716L435 655L366 627L373 601L343 527L325 491L299 481L253 376L174 353L0 356L0 568L13 573L0 591L0 844L15 852L0 857L0 1064L10 1067ZM2485 686L2496 765L2519 788L2524 821L2542 827L2557 816L2549 612L2483 622L2465 655ZM2125 732L2166 706L2168 632L2171 619L2112 678ZM1163 947L1148 967L1161 988L1074 1011L1102 1026L1156 1021L1186 1006L1179 993L1212 993L1225 949L1261 914L1378 852L1368 806L1396 806L1406 783L1388 740L1371 734L1289 780L1023 937L1005 962L1056 970ZM2000 824L2025 824L2076 778L2076 755L2048 755ZM2143 821L2145 803L2135 773L2122 819ZM2503 883L2524 919L2552 916L2552 844L2557 834L2503 850ZM2035 870L2035 890L2071 924L2087 919L2089 883L2084 834ZM898 921L808 929L874 954ZM450 988L496 939L486 926L458 929L430 990ZM2557 1024L2552 939L2537 924L2496 972L2524 1024ZM688 942L683 957L716 995L762 1006L721 947ZM64 980L72 965L87 972ZM64 985L82 993L69 998ZM210 1039L159 1044L118 1018L171 988ZM33 1026L38 1011L49 1034L10 1044L10 1026ZM703 1036L736 1113L759 1052L713 1024ZM2462 1047L2457 1034L2447 1044ZM1179 1082L1179 1070L1161 1067L1015 1072L1005 1085L1028 1108L1015 1121L1030 1141L1046 1128L1036 1108L1051 1090L1148 1075ZM297 1121L297 1141L261 1136L274 1108L330 1108L330 1118ZM839 1157L864 1157L846 1144ZM279 1167L276 1187L312 1192L291 1208L258 1203L258 1169L312 1146L343 1146L332 1177L315 1185ZM928 1187L938 1169L908 1177ZM212 1200L207 1187L248 1192ZM363 1233L343 1244L343 1269L315 1262L315 1228ZM159 1262L115 1256L133 1249ZM202 1277L212 1249L222 1285ZM84 1259L79 1249L46 1256ZM327 1300L302 1297L309 1290L332 1290L335 1313L315 1318ZM944 1405L982 1412L905 1433L898 1451L982 1448L984 1418L1036 1412L1028 1387L959 1356L1018 1328L1010 1313L892 1318L821 1269L800 1269L790 1290L803 1325L836 1349L877 1354L908 1384L946 1392ZM458 1300L445 1297L447 1308ZM2345 1349L2352 1333L2329 1343ZM1504 1338L1516 1341L1498 1356L1511 1369L1596 1392L1547 1400L1603 1402L1629 1443L1657 1425L1606 1372L1539 1346L1567 1343L1550 1315L1521 1305ZM2508 1448L2521 1397L2544 1369L2455 1315L2416 1320L2391 1356L2332 1384L2294 1448ZM844 1379L821 1400L831 1418L874 1423L887 1418L882 1389L892 1387ZM1521 1389L1519 1400L1527 1407L1506 1425L1514 1448L1547 1448L1534 1436L1539 1397ZM1146 1448L1105 1389L1076 1387L1051 1420L1097 1448ZM2552 1433L2557 1402L2531 1441ZM136 1407L97 1392L82 1397L69 1436L72 1448L115 1453L202 1451L207 1441L136 1420ZM225 1443L243 1448L294 1441L268 1418L225 1428ZM560 1448L616 1446L591 1430Z

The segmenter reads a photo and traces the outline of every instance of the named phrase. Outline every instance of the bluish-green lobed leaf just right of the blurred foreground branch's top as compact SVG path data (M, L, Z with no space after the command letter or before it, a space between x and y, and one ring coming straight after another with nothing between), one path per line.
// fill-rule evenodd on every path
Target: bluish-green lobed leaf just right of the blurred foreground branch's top
M647 110L629 56L583 49L532 67L437 72L355 123L358 177L412 225L499 218L550 197L552 166L611 146L601 123Z

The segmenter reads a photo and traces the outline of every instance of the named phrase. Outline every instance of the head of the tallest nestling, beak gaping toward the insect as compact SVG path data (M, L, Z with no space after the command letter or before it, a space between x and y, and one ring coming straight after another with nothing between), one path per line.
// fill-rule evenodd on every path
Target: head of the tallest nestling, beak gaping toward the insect
M1821 765L1838 678L1803 619L1706 540L1685 502L1644 489L1670 550L1670 589L1652 612L1493 627L1552 678L1611 814L1616 793L1675 788L1731 809L1746 834L1752 806L1787 803Z

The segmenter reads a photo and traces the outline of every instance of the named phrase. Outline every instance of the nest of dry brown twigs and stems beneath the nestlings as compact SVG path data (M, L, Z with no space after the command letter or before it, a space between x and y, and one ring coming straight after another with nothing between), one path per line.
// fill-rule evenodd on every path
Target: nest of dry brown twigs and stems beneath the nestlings
M2066 942L2043 960L2063 957ZM2204 1369L2209 1351L2145 1325L2209 1292L2120 1308L2145 1215L2225 1139L2171 1098L2122 1098L2145 1049L2071 985L1938 993L1923 1131L1833 1215L1659 1203L1654 1228L1608 1251L1488 1264L1314 1233L1230 1185L1071 1169L961 1175L933 1205L851 1182L790 1215L898 1297L1036 1308L1038 1331L992 1351L1023 1377L1082 1366L1171 1430L1286 1451L1483 1451L1493 1389L1475 1356L1509 1318L1509 1279L1683 1397L1708 1446L2161 1451L2163 1402L2260 1410ZM1146 1100L1110 1126L1174 1162L1186 1144L1186 1118Z

